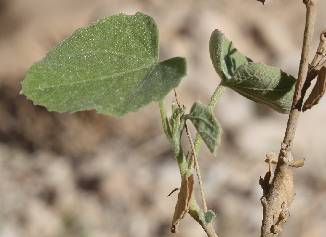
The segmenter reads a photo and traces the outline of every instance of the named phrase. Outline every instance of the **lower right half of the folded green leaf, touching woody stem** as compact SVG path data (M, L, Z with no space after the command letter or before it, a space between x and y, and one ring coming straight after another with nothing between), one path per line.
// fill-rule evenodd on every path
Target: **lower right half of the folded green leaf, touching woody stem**
M239 66L226 85L240 95L277 112L289 113L296 79L276 67L264 63Z

